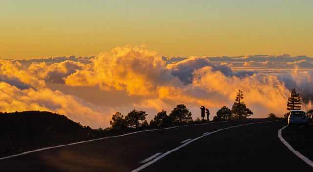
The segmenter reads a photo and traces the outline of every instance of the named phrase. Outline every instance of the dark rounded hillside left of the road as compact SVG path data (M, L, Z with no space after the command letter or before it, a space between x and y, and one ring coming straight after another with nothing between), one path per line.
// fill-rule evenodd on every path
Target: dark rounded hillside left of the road
M0 113L0 156L92 139L95 131L51 112Z

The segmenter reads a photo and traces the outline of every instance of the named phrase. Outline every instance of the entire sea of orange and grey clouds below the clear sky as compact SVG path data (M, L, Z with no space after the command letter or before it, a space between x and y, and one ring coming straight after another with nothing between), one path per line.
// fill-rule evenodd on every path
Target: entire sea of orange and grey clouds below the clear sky
M211 117L231 108L236 91L253 117L283 116L295 88L312 108L313 58L289 55L162 57L144 47L117 47L92 57L0 59L0 111L47 110L92 128L108 127L116 111L201 105Z

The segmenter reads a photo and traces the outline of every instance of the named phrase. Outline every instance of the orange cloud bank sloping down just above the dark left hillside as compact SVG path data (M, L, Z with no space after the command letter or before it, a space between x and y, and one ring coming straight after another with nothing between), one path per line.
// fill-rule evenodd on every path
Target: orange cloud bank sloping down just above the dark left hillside
M21 90L8 83L0 82L0 111L13 112L16 110L52 111L65 114L74 121L94 128L106 126L109 120L109 115L104 115L90 108L86 102L75 96L63 94L60 91L52 91L48 88Z

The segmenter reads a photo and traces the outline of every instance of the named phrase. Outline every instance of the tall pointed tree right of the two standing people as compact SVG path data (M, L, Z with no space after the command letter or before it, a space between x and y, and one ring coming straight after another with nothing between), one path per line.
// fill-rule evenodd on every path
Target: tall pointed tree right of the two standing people
M240 120L246 119L248 116L253 115L253 112L246 107L246 104L241 101L243 99L243 92L239 89L236 100L231 108L231 112L236 115Z

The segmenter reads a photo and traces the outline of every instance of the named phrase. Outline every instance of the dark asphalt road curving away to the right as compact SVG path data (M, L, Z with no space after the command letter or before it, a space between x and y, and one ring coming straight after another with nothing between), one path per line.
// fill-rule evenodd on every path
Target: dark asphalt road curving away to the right
M174 129L141 132L83 144L38 151L0 160L0 172L225 172L301 171L313 169L289 151L279 140L278 130L285 121L253 123L210 123ZM203 136L204 133L219 130ZM224 130L223 130L224 129ZM201 137L203 136L203 137ZM181 143L188 139L188 141ZM156 159L139 163L156 153Z

